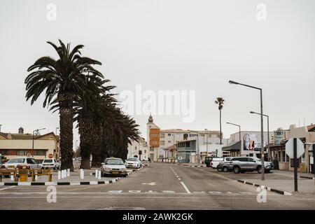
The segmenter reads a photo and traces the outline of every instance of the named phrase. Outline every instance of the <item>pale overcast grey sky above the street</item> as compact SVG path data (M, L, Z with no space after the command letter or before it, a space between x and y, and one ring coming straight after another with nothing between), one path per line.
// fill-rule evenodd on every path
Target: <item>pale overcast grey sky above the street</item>
M228 80L262 88L270 130L315 123L314 10L312 0L1 0L1 132L45 127L45 134L59 127L43 97L33 106L26 102L24 83L36 59L57 57L46 41L59 38L85 45L82 54L102 62L97 69L117 86L118 98L137 85L195 91L195 119L153 114L161 129L218 130L214 101L223 97L225 138L238 131L226 122L260 130L259 116L249 113L260 111L259 91ZM148 111L132 116L146 137Z

